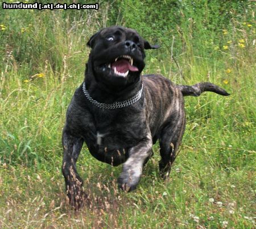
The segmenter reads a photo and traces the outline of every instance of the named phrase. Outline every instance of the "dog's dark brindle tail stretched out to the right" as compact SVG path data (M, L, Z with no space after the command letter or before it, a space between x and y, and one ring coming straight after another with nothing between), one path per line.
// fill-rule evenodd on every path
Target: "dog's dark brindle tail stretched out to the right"
M178 88L181 90L183 96L187 96L187 95L199 96L204 91L212 91L217 94L225 95L225 96L230 95L224 89L209 82L201 82L193 86L178 85Z

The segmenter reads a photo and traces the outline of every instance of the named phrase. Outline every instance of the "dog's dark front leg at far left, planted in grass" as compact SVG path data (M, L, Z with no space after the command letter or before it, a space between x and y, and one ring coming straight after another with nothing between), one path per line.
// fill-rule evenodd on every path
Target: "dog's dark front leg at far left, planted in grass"
M64 131L62 142L64 148L62 173L65 178L69 203L75 209L79 209L82 206L84 193L82 191L82 179L76 170L76 161L84 140Z

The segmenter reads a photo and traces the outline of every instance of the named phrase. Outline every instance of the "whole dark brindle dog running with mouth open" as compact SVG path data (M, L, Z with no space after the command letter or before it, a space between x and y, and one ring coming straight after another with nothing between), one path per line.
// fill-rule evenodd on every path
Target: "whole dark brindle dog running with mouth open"
M209 82L175 85L159 74L141 76L144 49L151 45L130 28L113 26L98 31L84 83L75 91L63 130L62 171L71 205L82 204L82 179L76 161L86 143L96 159L117 166L123 163L118 186L134 190L143 165L159 140L160 174L167 178L185 130L184 95L203 91L229 95Z

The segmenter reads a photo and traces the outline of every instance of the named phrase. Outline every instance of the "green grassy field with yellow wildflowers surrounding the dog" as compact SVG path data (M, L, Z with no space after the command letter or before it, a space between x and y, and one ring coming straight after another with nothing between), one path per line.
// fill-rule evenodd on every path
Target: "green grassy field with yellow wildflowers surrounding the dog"
M99 5L0 9L0 227L255 228L255 3ZM185 98L187 129L168 182L158 144L131 193L117 189L121 166L100 163L84 145L77 166L90 200L75 212L60 169L65 111L84 78L86 41L116 23L161 45L147 51L144 74L210 81L231 95Z

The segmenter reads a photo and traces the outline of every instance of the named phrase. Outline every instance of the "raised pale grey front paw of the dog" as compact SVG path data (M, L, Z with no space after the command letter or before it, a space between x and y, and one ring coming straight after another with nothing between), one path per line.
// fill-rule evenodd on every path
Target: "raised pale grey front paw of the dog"
M118 188L129 192L137 188L139 177L129 176L129 174L122 173L121 176L118 177L117 182Z

